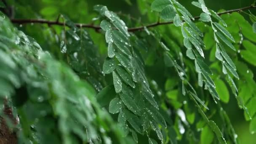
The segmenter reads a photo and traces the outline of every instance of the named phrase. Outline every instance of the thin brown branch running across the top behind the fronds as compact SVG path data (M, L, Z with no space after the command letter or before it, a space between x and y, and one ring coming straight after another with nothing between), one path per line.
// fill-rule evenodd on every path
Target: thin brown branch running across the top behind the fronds
M250 8L256 8L256 6L255 6L255 5L250 5L250 6L247 6L247 7L237 8L237 9L233 9L233 10L229 10L229 11L224 11L224 12L217 13L217 14L220 16L220 15L222 15L222 14L232 13L232 12L240 12L240 11L247 10L247 9L250 9ZM195 17L194 17L194 19L199 19L199 18L200 18L200 16L195 16ZM64 26L64 23L63 23L63 22L59 22L59 21L48 21L48 20L46 20L46 19L11 19L11 22L12 22L12 23L15 23L15 24L38 23L38 24L48 24L48 25ZM168 21L168 22L156 22L156 23L149 24L149 25L146 25L146 26L132 27L132 28L129 28L128 31L129 31L129 32L134 32L134 31L138 31L138 30L144 29L144 27L147 27L147 28L149 28L149 27L157 27L157 26L165 25L165 24L173 24L173 21ZM76 23L75 25L76 25L77 27L92 28L92 29L95 29L96 31L99 31L99 30L101 29L101 27L95 26L95 25L92 25L92 24L80 24L80 23Z

